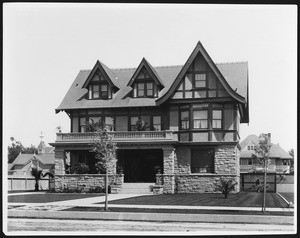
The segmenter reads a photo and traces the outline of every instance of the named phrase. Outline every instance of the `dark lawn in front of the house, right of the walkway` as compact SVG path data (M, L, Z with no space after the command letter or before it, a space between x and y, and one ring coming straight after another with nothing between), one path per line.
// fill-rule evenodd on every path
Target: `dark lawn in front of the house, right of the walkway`
M261 207L263 193L240 192L229 194L224 198L222 194L162 194L140 196L110 201L110 204L133 205L180 205L180 206L225 206L225 207ZM286 208L286 202L276 193L267 193L267 207Z

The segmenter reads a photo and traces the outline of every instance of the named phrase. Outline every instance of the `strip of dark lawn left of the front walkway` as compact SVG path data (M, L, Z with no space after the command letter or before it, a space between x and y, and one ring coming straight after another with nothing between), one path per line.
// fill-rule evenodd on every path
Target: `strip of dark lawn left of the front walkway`
M24 195L10 195L8 196L9 203L46 203L46 202L59 202L73 199L99 197L103 194L96 193L45 193L45 194L24 194Z

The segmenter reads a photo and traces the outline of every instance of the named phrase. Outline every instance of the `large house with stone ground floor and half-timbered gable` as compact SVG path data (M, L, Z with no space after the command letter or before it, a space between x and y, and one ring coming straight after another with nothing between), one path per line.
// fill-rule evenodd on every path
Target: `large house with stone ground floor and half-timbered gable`
M136 68L113 69L97 61L79 71L56 109L71 126L50 143L55 187L103 185L90 152L95 133L85 127L92 121L111 125L120 186L155 183L164 193L202 193L214 192L221 178L239 182L239 124L249 122L248 103L248 63L215 64L200 42L183 65L153 67L143 58ZM137 130L139 119L145 131ZM66 173L66 165L78 163L89 166L88 176Z

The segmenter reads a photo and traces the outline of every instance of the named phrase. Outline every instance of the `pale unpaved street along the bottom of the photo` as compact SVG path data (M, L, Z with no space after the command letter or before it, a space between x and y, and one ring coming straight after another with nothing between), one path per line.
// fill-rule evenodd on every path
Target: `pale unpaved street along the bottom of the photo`
M293 234L292 225L260 225L230 223L136 222L107 220L7 220L8 232L191 232L199 234Z

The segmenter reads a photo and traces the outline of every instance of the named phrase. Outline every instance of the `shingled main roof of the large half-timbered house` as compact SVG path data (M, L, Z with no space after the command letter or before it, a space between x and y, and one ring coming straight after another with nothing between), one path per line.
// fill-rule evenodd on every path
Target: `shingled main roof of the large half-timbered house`
M118 90L114 93L113 98L109 100L87 100L85 98L88 90L84 87L87 85L89 78L93 75L93 70L80 70L79 74L75 78L71 87L69 88L67 94L65 95L63 101L56 109L56 113L61 110L70 109L89 109L89 108L117 108L117 107L147 107L147 106L157 106L166 100L172 94L172 90L176 88L175 81L180 81L179 78L184 74L189 64L192 62L193 57L197 53L202 52L206 56L206 60L209 62L210 67L214 69L214 72L219 75L220 81L225 85L225 88L234 95L234 98L239 100L241 105L243 105L243 110L245 113L242 115L243 122L247 122L248 115L248 64L247 62L238 63L225 63L225 64L214 64L203 46L198 42L192 55L189 57L185 65L176 66L160 66L152 67L146 59L143 59L139 67L145 65L149 67L149 72L155 75L155 78L161 82L164 86L159 91L158 98L131 98L129 96L132 87L128 86L133 79L134 74L138 72L138 68L127 68L127 69L108 69L111 78L115 78L115 83L118 83ZM105 69L104 64L99 63ZM97 65L97 64L96 64ZM99 66L98 66L99 67ZM176 81L176 82L177 82ZM131 84L130 84L131 85ZM235 91L236 90L236 91ZM245 121L246 118L246 121Z

